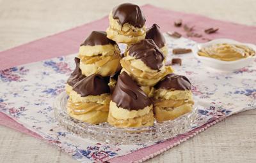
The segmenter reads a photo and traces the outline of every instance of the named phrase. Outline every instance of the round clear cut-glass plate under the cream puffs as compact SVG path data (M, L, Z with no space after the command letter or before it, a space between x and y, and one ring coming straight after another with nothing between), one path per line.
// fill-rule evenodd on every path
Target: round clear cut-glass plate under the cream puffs
M195 103L195 107L190 113L161 124L155 121L152 127L116 128L108 123L93 125L70 117L66 111L67 99L68 95L66 92L61 92L56 101L54 101L54 116L58 124L83 138L111 144L138 144L173 138L178 134L188 131L197 117Z

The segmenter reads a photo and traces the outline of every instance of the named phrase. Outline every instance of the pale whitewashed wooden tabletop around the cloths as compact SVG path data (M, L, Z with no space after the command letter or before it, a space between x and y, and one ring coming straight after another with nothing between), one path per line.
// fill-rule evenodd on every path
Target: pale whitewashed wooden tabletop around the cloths
M106 3L108 2L108 3ZM122 1L0 0L0 50L107 15ZM138 1L256 25L255 0ZM243 32L243 31L241 31ZM234 115L147 162L256 162L256 110ZM0 126L0 162L77 162L55 146Z

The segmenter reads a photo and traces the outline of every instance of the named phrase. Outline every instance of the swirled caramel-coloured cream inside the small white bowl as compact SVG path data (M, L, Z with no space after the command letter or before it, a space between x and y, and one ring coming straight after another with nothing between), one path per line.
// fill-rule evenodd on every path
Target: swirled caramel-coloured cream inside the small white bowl
M255 51L246 45L221 43L202 48L198 51L198 55L218 60L234 61L254 56Z

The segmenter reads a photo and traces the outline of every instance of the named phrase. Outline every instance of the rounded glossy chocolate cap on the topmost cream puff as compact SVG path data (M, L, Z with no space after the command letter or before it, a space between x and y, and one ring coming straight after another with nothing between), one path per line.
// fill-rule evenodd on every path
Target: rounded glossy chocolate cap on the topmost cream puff
M113 8L112 15L114 19L118 19L120 25L129 23L130 25L142 28L146 22L145 16L136 4L123 3Z

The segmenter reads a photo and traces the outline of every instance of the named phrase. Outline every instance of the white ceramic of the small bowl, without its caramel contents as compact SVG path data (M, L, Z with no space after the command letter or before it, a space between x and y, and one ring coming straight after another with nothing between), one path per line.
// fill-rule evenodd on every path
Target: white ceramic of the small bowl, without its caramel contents
M213 69L218 69L220 71L234 71L237 69L241 69L243 67L249 66L252 64L253 60L256 59L256 55L252 57L246 57L244 59L234 60L234 61L223 61L218 59L213 59L211 57L204 57L198 55L198 50L204 48L205 46L209 46L216 43L229 43L229 44L239 44L239 45L246 45L252 48L256 52L256 45L251 43L241 43L239 41L235 41L233 39L214 39L207 43L198 43L193 47L193 53L195 57L202 62L204 66L211 67Z

